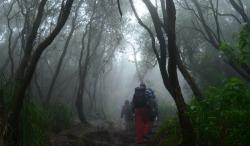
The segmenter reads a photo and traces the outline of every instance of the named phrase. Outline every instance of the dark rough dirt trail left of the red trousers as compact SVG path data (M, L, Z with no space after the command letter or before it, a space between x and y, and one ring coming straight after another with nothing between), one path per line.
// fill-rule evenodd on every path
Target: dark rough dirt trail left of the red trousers
M107 126L79 124L51 136L50 142L52 146L137 146L134 137L134 132L126 132Z

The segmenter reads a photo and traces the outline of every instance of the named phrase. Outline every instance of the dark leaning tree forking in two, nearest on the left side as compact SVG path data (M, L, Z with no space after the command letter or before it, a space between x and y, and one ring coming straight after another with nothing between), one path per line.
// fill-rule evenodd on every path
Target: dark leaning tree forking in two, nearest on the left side
M19 145L19 118L22 110L23 102L25 99L26 90L31 82L36 65L41 57L43 51L53 42L55 37L58 35L60 30L63 28L70 14L74 0L63 1L61 4L61 11L58 17L57 25L50 33L49 36L45 38L40 44L35 45L35 39L37 37L37 31L42 21L42 16L44 13L44 7L47 0L42 0L39 4L36 19L33 23L32 29L29 33L28 39L26 41L24 56L21 59L21 64L15 73L15 92L13 99L13 107L10 112L8 119L8 124L10 125L8 129L8 134L5 136L6 140L13 137L9 143L11 145ZM33 53L32 53L33 52Z

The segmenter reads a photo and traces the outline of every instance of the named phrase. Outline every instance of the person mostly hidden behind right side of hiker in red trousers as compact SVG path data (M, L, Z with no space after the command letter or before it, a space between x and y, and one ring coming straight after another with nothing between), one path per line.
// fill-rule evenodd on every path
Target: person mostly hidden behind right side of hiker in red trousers
M158 105L154 91L151 88L147 88L145 94L148 100L147 106L149 107L149 134L151 134L154 122L158 117Z

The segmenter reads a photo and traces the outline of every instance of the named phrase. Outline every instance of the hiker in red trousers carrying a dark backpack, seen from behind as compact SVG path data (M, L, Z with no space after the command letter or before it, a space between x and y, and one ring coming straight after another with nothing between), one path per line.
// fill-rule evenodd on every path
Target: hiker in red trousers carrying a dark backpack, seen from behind
M133 111L135 113L136 143L142 144L150 132L149 107L147 106L146 85L135 88L133 96Z

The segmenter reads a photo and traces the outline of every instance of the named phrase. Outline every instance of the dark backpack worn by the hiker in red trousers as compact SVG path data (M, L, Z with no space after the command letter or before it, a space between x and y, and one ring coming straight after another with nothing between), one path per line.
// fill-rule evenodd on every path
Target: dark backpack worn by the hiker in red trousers
M135 108L142 108L147 105L147 97L145 95L145 88L135 88L133 97L133 104Z

